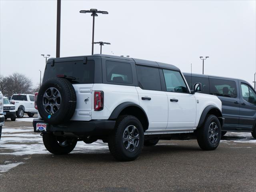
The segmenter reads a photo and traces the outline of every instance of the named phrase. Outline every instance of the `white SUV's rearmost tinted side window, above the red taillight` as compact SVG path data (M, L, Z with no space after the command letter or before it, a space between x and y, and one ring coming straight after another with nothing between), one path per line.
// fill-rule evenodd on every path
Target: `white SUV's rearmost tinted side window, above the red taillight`
M106 61L106 76L108 82L132 84L132 66L130 63Z

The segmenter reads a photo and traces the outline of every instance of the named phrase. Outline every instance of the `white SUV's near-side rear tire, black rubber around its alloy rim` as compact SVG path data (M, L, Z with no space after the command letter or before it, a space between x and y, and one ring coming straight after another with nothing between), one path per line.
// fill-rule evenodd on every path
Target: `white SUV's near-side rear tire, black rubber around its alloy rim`
M123 142L124 132L126 128L128 128L129 126L134 126L137 129L139 134L138 146L132 152L126 150ZM124 116L118 117L115 128L112 134L110 134L108 138L108 148L111 154L114 156L114 158L120 161L135 160L139 156L142 150L143 144L144 144L144 130L138 118L131 115L124 115Z

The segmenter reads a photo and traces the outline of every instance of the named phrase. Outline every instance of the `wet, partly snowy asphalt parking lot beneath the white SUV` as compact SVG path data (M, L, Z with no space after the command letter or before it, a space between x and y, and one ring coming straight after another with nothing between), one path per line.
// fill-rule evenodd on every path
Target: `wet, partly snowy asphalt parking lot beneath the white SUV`
M214 151L196 140L161 140L132 162L116 161L100 140L56 156L32 118L7 120L0 140L0 192L256 191L256 140L228 132Z

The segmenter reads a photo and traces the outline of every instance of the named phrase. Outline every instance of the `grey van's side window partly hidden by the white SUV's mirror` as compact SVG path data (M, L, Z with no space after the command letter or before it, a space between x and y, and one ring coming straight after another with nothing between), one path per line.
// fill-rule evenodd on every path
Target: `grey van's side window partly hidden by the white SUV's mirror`
M200 93L209 94L210 93L210 86L209 86L209 79L206 77L196 77L196 76L184 76L186 78L186 81L188 82L188 86L191 90L194 89L195 83L201 83L202 84L202 91ZM192 79L192 82L191 82Z

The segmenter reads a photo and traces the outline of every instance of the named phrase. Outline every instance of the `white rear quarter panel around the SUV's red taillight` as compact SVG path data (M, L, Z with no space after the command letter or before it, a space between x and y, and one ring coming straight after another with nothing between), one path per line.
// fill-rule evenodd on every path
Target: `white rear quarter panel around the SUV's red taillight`
M132 102L139 105L138 92L134 86L114 85L114 84L94 84L94 91L103 91L104 107L101 111L94 111L94 98L92 100L92 119L108 119L114 109L124 103Z

